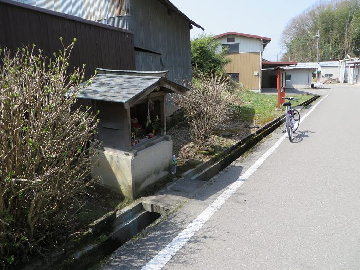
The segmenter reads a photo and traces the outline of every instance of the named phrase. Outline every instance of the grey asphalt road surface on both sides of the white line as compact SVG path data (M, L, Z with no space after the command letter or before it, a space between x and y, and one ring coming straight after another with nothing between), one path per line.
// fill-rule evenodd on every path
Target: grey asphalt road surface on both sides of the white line
M360 86L328 92L294 143L283 140L163 269L360 269ZM271 148L281 129L102 269L141 269Z

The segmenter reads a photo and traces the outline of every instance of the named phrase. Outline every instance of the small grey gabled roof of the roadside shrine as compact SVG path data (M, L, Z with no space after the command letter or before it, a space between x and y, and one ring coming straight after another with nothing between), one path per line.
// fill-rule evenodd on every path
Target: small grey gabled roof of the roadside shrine
M102 71L104 72L104 70ZM179 93L185 93L188 90L186 87L161 76L167 71L149 73L148 75L144 71L106 70L105 72L107 74L97 74L91 84L79 91L77 98L118 103L131 101L133 103L155 91L158 87Z

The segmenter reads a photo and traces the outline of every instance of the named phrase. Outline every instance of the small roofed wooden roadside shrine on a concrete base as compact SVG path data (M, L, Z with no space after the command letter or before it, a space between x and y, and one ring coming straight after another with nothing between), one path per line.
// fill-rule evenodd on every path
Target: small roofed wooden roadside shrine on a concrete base
M166 135L166 95L188 89L167 79L167 71L97 69L78 103L99 112L97 139L105 186L133 199L171 172L172 140Z

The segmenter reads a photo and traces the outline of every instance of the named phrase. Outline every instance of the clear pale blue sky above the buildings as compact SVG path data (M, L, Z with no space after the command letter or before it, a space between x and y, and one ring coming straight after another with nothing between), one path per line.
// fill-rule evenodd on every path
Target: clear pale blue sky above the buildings
M214 35L226 32L240 32L271 38L264 50L264 58L280 61L282 49L280 34L294 16L315 4L316 0L170 0L191 20L205 28L205 33ZM191 30L191 38L203 31L197 27Z

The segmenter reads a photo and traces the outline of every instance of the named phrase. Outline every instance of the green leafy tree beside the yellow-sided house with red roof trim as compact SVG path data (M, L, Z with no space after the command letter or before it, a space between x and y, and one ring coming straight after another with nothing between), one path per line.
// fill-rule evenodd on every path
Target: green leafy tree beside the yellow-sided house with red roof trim
M200 34L191 40L191 64L193 75L224 73L224 67L231 62L226 49L210 34Z

